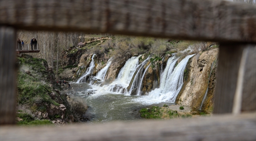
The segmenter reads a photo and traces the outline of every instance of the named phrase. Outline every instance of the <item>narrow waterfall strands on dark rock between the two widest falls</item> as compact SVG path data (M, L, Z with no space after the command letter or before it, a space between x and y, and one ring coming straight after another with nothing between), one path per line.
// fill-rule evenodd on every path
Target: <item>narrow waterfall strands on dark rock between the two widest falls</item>
M143 76L144 76L144 74L145 74L145 72L147 71L147 70L144 70L144 67L145 67L145 65L146 65L146 63L148 62L148 60L149 60L149 58L150 58L151 56L148 56L148 58L146 59L146 60L144 60L140 65L139 65L139 67L138 67L138 71L137 71L137 73L135 74L135 76L134 76L134 81L132 82L132 86L131 86L131 88L130 88L130 90L129 90L129 94L131 94L132 92L133 93L135 93L135 94L137 94L137 87L138 87L138 84L140 83L140 81L142 81L143 80ZM141 74L143 73L143 71L144 71L144 74L143 74L143 76L141 76ZM137 94L138 95L138 94Z

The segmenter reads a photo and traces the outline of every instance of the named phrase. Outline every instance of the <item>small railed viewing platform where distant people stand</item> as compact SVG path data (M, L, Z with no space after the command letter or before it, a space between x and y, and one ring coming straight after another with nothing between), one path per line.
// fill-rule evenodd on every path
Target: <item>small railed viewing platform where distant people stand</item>
M17 53L38 53L39 50L39 43L33 43L33 44L20 44L17 43L16 52Z

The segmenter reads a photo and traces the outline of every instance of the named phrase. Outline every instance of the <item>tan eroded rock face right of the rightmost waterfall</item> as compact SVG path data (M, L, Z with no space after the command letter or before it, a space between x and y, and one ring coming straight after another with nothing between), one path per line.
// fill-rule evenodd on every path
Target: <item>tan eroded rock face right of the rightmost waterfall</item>
M188 62L186 67L186 69L190 69L188 74L189 79L185 80L184 86L176 98L176 103L195 109L200 108L208 87L211 65L213 61L215 61L211 71L208 94L204 101L205 104L202 107L202 110L210 112L213 106L218 51L218 49L211 49L210 51L202 52L201 55L197 54L191 58L191 61Z

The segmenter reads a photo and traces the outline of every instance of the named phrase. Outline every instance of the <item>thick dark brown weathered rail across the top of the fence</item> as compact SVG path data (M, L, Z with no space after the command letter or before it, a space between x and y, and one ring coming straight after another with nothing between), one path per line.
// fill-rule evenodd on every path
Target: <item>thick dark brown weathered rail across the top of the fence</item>
M0 24L217 42L256 42L256 5L223 0L0 0Z

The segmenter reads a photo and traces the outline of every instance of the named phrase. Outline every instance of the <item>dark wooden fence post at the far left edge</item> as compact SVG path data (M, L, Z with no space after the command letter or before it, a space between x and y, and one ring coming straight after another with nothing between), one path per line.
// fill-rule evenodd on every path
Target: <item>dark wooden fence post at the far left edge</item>
M14 124L16 114L16 30L0 26L0 124Z

